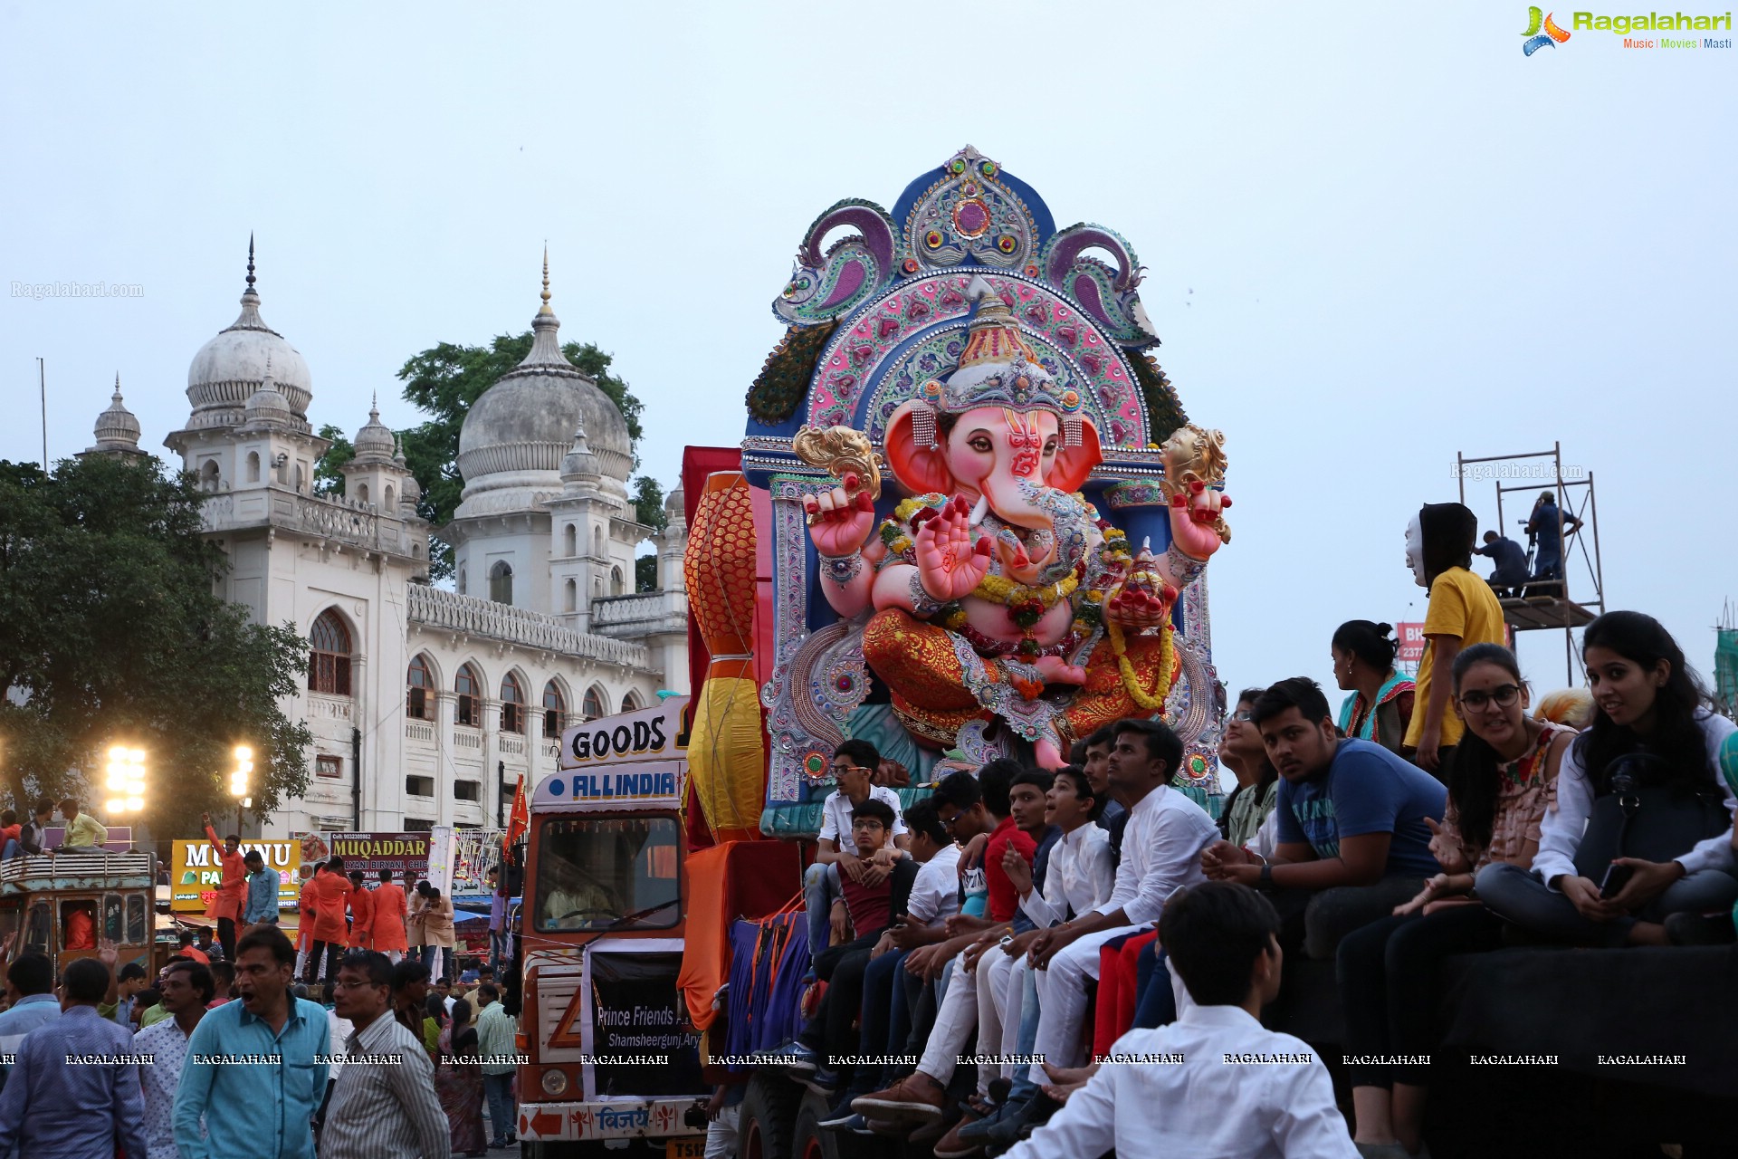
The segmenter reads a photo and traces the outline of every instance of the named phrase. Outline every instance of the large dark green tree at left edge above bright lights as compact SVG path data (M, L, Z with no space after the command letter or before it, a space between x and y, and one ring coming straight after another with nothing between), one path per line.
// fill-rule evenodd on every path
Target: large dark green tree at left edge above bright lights
M106 799L108 745L148 754L141 820L193 832L235 808L228 770L254 749L254 813L308 785L308 726L280 700L308 666L292 627L216 594L193 476L156 459L0 460L0 775L14 805Z

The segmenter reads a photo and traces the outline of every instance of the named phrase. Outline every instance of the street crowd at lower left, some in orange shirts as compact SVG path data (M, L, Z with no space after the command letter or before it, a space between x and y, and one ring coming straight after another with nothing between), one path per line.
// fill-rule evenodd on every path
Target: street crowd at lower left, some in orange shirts
M368 890L334 857L302 890L297 945L278 928L276 871L205 827L222 865L217 937L182 930L155 978L106 940L61 977L42 952L0 945L0 1159L511 1145L518 1018L494 964L455 961L452 902L415 874L400 886L382 871Z

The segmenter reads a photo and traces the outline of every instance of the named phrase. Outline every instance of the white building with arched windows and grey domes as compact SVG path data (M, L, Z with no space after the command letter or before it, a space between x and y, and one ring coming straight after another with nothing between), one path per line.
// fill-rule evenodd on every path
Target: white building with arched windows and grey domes
M330 443L308 422L313 379L261 318L254 281L249 242L242 315L193 356L191 410L165 445L210 492L224 594L309 641L285 705L315 733L308 792L264 836L499 825L518 780L554 770L568 723L688 690L680 492L662 535L634 520L627 422L561 354L546 261L530 354L466 415L452 521L417 516L421 488L377 408L342 495L316 493ZM118 377L85 454L141 454ZM452 591L428 582L431 533L454 547ZM634 593L647 540L660 586Z

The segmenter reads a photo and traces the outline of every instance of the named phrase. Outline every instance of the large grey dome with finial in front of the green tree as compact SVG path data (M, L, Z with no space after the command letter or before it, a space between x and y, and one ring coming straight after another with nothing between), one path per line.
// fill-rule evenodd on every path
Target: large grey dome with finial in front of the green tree
M471 403L459 429L459 474L464 476L466 500L490 490L560 490L563 459L580 427L587 434L589 454L596 457L598 474L626 488L633 471L627 421L610 396L561 353L560 327L549 308L546 250L542 308L532 320L532 351Z

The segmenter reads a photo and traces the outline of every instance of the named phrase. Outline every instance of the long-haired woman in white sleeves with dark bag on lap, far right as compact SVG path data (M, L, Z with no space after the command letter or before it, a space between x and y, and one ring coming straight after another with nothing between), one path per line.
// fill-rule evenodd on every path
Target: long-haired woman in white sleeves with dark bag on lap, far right
M1663 945L1722 937L1738 900L1733 782L1738 726L1708 693L1670 632L1641 612L1587 626L1582 662L1594 721L1557 777L1531 869L1479 871L1486 905L1552 942ZM1641 824L1625 824L1623 801ZM1689 839L1684 834L1700 834Z

